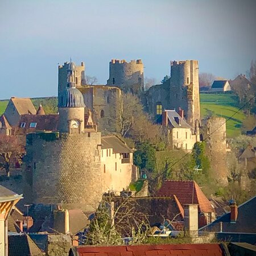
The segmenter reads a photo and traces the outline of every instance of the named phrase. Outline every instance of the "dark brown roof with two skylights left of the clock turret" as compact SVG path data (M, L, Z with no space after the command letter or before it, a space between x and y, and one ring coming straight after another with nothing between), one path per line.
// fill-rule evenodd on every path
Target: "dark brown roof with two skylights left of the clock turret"
M36 123L35 128L30 127L30 123ZM33 131L57 131L57 126L59 123L58 114L49 114L49 115L21 115L19 119L19 128L22 123L26 123L23 127L29 132Z

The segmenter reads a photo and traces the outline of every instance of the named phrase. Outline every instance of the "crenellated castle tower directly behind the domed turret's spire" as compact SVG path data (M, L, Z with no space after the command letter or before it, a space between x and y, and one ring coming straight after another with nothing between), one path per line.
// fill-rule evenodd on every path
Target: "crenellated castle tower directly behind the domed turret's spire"
M59 65L59 81L58 81L58 98L60 98L61 93L63 93L68 85L67 76L68 76L68 69L70 64L74 68L74 76L75 76L75 84L76 86L80 86L85 84L85 64L82 61L81 65L75 65L72 61L70 63L65 62L64 65ZM58 102L59 104L59 102Z

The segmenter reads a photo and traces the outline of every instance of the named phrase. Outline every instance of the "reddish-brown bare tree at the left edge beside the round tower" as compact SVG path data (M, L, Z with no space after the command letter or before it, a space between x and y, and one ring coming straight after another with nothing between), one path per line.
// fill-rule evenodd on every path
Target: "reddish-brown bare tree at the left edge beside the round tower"
M5 170L7 176L10 176L11 162L20 164L24 153L24 147L17 137L0 134L0 169Z

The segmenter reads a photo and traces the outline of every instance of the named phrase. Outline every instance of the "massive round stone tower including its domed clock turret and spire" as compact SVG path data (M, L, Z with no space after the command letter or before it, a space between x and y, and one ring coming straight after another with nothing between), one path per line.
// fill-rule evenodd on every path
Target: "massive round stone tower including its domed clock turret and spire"
M84 99L76 89L75 67L68 67L60 95L59 132L27 135L24 174L28 203L95 209L101 200L101 133L84 125Z

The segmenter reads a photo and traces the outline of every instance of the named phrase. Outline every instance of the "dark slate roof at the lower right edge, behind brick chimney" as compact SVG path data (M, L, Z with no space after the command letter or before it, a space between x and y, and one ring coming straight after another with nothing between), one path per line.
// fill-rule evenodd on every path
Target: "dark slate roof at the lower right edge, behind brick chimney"
M212 223L204 226L200 231L220 231L218 222L222 222L222 232L256 233L256 196L238 206L236 223L230 223L230 212L224 214Z

